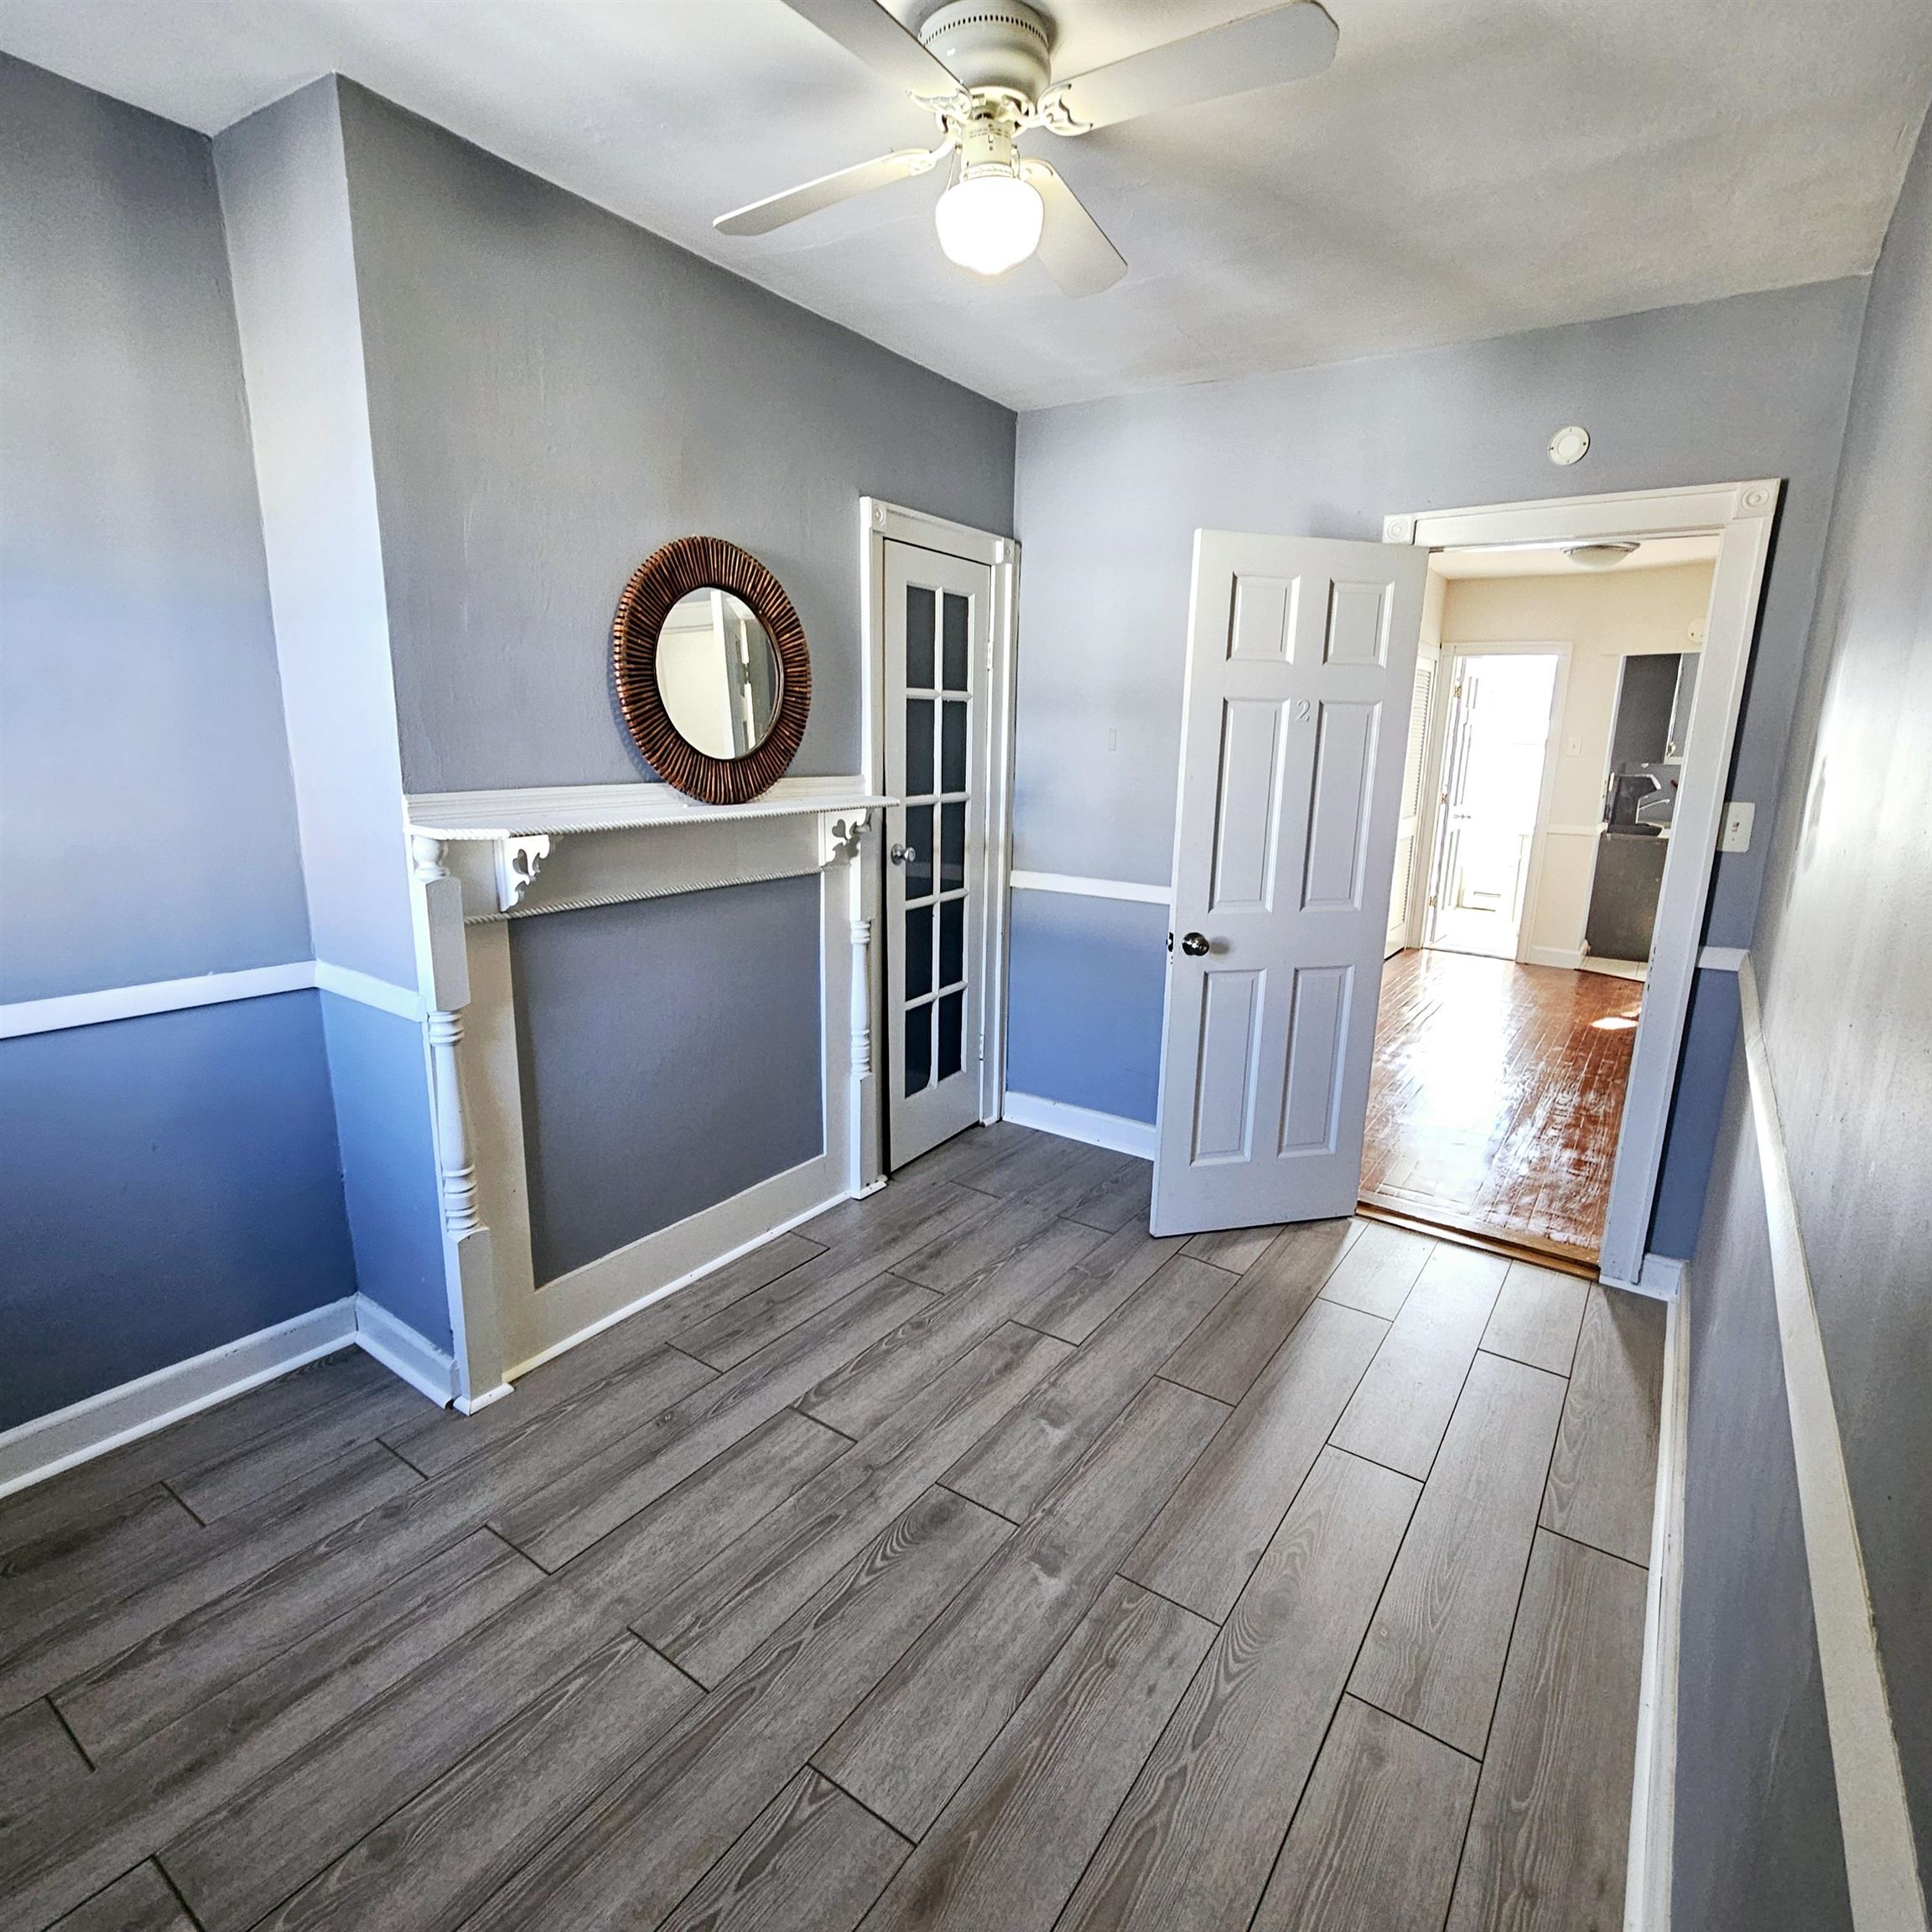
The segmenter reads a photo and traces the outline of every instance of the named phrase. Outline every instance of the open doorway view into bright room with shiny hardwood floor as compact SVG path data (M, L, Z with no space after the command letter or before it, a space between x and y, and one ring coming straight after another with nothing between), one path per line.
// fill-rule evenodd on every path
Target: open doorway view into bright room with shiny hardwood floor
M1716 556L1432 556L1368 1208L1596 1269Z

